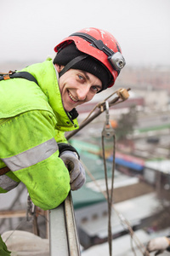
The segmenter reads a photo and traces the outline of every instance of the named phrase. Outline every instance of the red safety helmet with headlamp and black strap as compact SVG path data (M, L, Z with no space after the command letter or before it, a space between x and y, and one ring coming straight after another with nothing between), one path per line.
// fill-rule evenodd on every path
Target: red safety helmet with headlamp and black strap
M120 45L110 32L94 27L84 28L57 44L54 51L58 52L59 49L71 44L71 42L74 42L77 49L83 53L91 55L102 62L110 71L113 79L108 87L115 84L116 78L126 62L122 56Z

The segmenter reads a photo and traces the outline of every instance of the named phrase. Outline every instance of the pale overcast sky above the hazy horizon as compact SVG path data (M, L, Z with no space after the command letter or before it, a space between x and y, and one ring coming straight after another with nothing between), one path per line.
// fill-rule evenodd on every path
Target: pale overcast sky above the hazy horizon
M170 65L170 0L1 0L0 63L44 61L72 32L111 32L127 65Z

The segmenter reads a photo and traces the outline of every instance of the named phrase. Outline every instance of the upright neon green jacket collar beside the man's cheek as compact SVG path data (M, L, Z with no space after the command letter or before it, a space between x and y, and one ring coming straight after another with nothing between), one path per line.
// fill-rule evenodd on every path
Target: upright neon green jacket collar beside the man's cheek
M77 129L78 123L77 116L74 114L75 111L66 113L63 107L58 83L59 73L56 71L52 59L48 58L42 63L26 67L26 71L30 72L37 79L38 85L47 96L48 104L57 119L56 129L59 131Z

